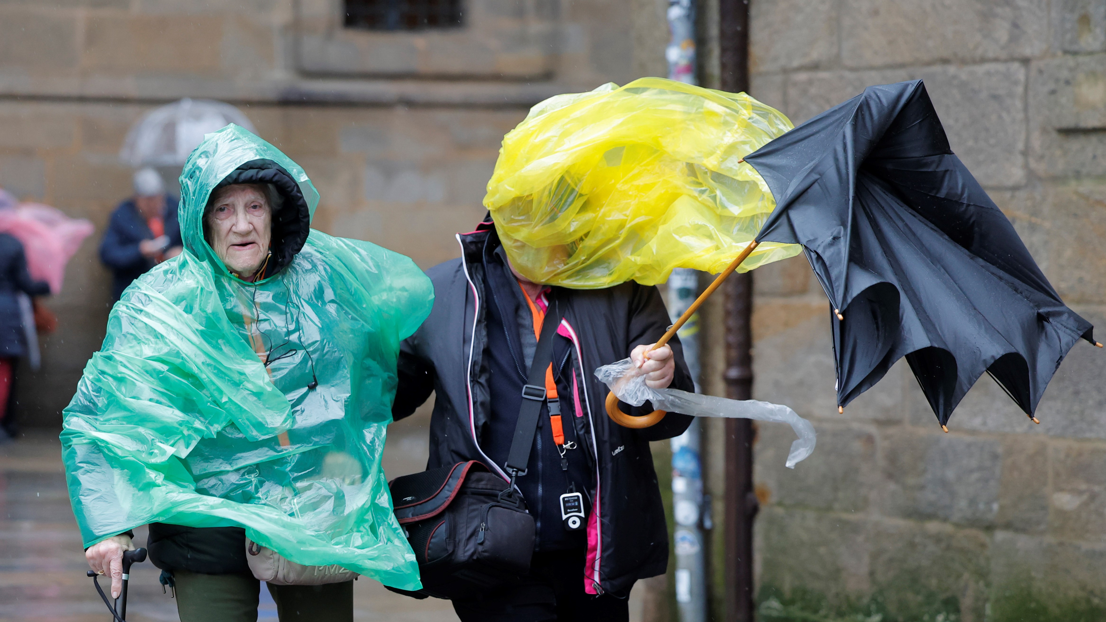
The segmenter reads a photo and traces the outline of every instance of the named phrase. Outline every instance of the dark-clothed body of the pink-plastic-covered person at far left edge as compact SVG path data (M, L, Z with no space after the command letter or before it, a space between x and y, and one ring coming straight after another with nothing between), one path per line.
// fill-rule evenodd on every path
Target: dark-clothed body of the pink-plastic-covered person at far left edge
M10 233L0 233L0 442L8 441L15 432L11 417L15 363L27 355L27 328L18 298L20 293L45 296L50 294L50 284L31 278L23 244Z

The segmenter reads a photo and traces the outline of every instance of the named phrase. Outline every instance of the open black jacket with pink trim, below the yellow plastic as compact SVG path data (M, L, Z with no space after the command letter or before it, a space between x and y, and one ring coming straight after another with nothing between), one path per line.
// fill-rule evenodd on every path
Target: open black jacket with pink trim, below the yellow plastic
M458 235L461 259L427 272L434 282L434 309L403 342L399 355L394 417L409 415L431 392L436 397L427 468L479 460L503 475L502 465L488 458L480 445L491 412L480 261L489 236L494 232L487 224ZM626 358L638 345L656 341L670 320L657 288L637 283L606 289L560 289L557 299L567 303L563 324L567 330L557 338L564 339L567 333L573 342L570 358L585 414L577 432L586 440L584 449L597 482L597 489L589 491L597 503L588 517L584 588L589 593L625 597L634 581L664 573L668 563L668 533L649 441L681 434L691 418L669 413L651 428L623 428L607 417L604 401L608 390L593 372ZM670 344L676 356L671 386L693 390L679 340L674 338ZM648 404L641 410L646 408ZM629 412L638 414L634 410Z

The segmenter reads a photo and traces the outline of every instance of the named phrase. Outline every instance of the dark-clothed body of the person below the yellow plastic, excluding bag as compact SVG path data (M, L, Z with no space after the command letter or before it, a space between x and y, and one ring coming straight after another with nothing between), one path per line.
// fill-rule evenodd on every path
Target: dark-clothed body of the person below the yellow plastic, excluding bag
M668 536L649 442L682 433L690 417L669 413L629 430L607 419L593 375L633 357L657 389L693 390L679 339L645 352L670 324L656 287L551 287L522 276L494 223L458 235L461 257L428 271L435 305L404 341L396 419L435 393L428 468L479 461L511 479L534 517L530 571L517 584L452 600L462 622L628 620L637 579L661 574ZM552 360L535 361L539 336L563 313ZM525 472L508 456L532 365L547 365L539 424ZM653 409L628 408L641 415ZM563 519L563 495L580 494L584 519ZM614 526L622 526L615 529Z

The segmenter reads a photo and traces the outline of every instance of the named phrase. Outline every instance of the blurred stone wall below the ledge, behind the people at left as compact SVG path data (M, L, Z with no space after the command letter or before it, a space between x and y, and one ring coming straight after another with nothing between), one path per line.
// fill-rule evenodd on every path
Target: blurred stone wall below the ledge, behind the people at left
M109 273L97 247L107 218L131 193L117 154L150 105L0 101L0 187L87 218L96 232L70 262L60 296L45 299L59 330L44 336L43 367L23 367L20 419L59 426L85 361L104 337ZM258 133L311 176L321 194L313 226L368 240L424 267L457 256L453 234L483 217L483 186L519 109L242 108ZM10 130L8 129L10 128Z

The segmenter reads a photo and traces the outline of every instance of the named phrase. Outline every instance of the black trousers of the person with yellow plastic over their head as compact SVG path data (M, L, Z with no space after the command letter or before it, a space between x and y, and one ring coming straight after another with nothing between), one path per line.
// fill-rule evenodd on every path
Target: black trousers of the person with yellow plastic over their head
M519 584L455 600L461 622L628 622L626 599L584 592L585 549L535 552Z

